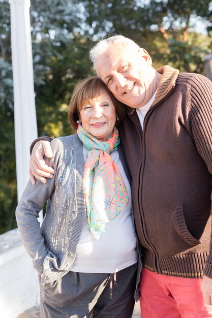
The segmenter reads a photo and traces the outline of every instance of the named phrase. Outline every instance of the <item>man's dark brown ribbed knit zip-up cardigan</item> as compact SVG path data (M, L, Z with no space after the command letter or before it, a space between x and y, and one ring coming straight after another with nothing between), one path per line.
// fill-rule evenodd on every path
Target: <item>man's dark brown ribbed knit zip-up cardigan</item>
M212 83L168 66L154 104L119 126L132 175L143 266L159 274L212 278Z

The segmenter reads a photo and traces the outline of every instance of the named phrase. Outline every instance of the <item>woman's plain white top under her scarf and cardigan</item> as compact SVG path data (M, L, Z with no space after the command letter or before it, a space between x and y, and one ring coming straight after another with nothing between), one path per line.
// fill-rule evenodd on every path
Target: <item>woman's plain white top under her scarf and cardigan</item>
M83 146L84 159L87 149ZM106 224L105 233L97 240L87 229L87 220L84 222L77 254L71 268L73 272L81 273L115 273L138 261L136 244L137 239L132 222L132 198L127 176L119 159L118 151L111 153L111 158L122 174L128 194L129 204L114 219Z

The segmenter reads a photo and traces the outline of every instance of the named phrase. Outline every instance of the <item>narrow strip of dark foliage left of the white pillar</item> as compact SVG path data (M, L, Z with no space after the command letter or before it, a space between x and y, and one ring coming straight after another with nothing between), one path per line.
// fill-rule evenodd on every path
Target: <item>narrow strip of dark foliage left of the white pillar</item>
M0 233L16 226L17 205L10 5L0 3Z

